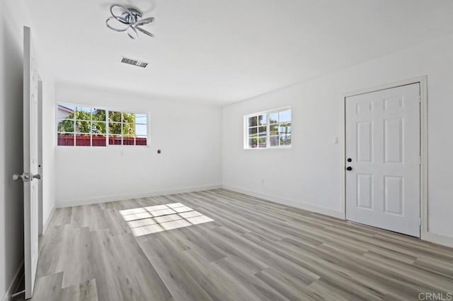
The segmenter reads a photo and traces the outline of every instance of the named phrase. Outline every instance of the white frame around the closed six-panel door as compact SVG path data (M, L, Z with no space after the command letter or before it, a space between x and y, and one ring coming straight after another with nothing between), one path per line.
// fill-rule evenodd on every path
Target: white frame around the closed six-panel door
M396 88L402 85L411 85L413 83L420 84L420 238L424 239L426 232L428 232L428 76L419 76L394 83L377 85L372 88L345 93L341 96L341 128L343 142L341 148L341 206L346 220L346 98L379 90Z

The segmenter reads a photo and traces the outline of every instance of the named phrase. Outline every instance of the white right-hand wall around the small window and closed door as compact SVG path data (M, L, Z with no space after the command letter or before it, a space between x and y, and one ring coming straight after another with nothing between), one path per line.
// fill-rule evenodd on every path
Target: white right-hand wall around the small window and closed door
M452 53L449 35L224 107L224 187L344 216L341 95L428 75L428 230L453 237ZM243 116L286 105L292 106L292 148L243 150Z

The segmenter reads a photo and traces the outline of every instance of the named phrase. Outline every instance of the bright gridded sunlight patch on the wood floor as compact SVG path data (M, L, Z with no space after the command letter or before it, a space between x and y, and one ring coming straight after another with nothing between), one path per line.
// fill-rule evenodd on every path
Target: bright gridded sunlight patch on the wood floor
M131 228L134 236L214 221L183 203L167 203L165 205L120 210L120 214Z

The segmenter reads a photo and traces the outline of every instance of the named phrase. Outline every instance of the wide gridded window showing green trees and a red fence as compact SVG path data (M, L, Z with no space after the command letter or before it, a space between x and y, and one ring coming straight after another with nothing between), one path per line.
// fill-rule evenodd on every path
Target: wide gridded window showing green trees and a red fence
M147 114L57 105L58 146L147 146Z

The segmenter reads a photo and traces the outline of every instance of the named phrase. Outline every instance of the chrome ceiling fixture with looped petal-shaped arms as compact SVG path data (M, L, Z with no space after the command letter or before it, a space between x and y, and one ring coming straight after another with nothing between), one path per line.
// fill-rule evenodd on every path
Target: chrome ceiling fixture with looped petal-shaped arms
M142 13L137 8L114 4L110 6L111 17L105 20L105 25L116 32L125 31L132 40L137 40L138 32L154 37L148 30L142 28L143 25L154 22L154 17L142 18ZM116 23L112 25L112 23Z

